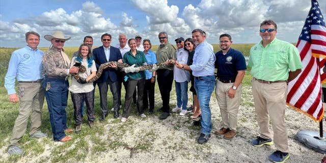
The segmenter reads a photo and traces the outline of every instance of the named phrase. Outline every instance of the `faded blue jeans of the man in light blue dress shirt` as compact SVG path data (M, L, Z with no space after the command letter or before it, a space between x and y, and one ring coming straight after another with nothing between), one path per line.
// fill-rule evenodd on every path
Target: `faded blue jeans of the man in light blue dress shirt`
M215 87L215 76L195 77L195 89L201 110L202 133L209 134L212 130L209 101Z

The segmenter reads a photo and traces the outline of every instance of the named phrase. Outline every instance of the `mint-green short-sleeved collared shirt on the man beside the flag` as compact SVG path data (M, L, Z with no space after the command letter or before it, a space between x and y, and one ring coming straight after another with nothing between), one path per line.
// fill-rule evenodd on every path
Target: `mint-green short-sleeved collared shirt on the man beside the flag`
M266 47L262 41L250 49L248 66L253 77L269 82L287 80L289 69L302 69L298 49L285 41L274 39Z

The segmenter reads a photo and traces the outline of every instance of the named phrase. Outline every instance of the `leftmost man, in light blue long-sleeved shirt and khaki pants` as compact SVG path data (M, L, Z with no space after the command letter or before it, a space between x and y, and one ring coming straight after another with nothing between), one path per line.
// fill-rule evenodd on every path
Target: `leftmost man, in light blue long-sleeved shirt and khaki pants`
M12 53L5 77L5 87L8 90L10 102L17 103L18 99L20 102L19 114L15 121L8 149L10 155L23 153L18 142L26 131L30 112L30 138L42 139L47 137L47 133L40 131L41 109L44 102L44 89L41 84L43 80L41 60L44 53L37 48L40 43L40 35L36 32L27 32L25 40L27 45ZM18 80L18 93L15 91L15 78Z

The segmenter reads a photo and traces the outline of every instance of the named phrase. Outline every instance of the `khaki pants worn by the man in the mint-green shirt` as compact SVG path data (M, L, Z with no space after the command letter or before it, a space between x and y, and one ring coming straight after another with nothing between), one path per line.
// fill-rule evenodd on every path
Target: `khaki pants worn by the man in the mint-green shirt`
M271 138L271 133L268 130L269 114L274 131L275 146L278 150L288 153L287 129L284 119L287 84L285 82L265 84L253 79L252 89L260 137Z

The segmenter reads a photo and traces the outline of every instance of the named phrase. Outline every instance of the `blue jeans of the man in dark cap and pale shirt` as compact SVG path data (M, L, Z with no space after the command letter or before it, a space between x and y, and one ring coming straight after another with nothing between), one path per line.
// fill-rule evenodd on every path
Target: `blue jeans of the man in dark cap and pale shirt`
M181 107L182 104L182 110L187 110L188 82L175 82L175 92L177 94L177 106Z

